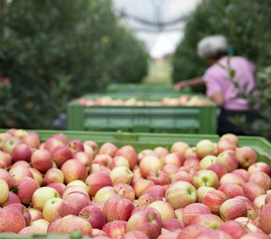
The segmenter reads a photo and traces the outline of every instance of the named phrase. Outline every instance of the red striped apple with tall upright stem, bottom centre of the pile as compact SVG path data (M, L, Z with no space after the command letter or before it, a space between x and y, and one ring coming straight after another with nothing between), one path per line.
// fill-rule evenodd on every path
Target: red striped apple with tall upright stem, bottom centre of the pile
M124 194L125 192L123 192ZM103 206L103 213L105 215L106 222L128 221L132 211L135 209L135 205L128 199L120 197L108 198Z

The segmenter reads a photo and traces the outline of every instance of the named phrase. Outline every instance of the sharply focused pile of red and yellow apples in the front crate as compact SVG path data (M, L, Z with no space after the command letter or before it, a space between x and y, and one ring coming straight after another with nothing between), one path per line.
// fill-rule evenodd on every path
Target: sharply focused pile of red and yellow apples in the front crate
M234 134L136 153L10 129L0 150L0 234L271 238L270 168Z

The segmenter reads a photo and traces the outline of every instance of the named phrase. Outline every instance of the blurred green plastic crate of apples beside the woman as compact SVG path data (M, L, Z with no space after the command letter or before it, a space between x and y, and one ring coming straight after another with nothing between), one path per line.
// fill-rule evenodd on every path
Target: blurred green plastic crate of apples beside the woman
M81 98L95 99L103 95L87 94ZM109 94L113 99L132 97ZM164 95L136 95L138 100L160 101ZM202 95L201 95L202 97ZM67 105L68 130L117 131L178 134L216 134L216 105L207 106L91 106Z

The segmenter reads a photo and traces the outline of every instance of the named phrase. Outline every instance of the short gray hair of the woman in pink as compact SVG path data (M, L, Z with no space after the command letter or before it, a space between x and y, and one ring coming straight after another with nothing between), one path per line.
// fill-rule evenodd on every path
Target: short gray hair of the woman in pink
M202 58L218 59L228 52L228 41L223 35L207 36L198 42L198 55Z

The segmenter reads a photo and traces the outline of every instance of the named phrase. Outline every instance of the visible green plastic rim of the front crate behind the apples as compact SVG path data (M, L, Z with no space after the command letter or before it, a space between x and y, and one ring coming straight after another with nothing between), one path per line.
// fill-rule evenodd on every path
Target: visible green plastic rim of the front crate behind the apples
M7 129L0 129L5 132ZM94 140L99 146L111 142L117 147L132 145L139 153L144 149L154 149L162 146L170 149L173 143L184 141L190 146L195 146L200 140L208 139L218 142L220 137L217 134L150 134L150 133L127 133L117 132L91 132L91 131L57 131L57 130L28 130L36 131L44 142L53 134L66 134L69 140L78 139L81 141ZM239 146L250 146L258 155L258 161L266 162L271 167L271 143L263 137L238 136Z

